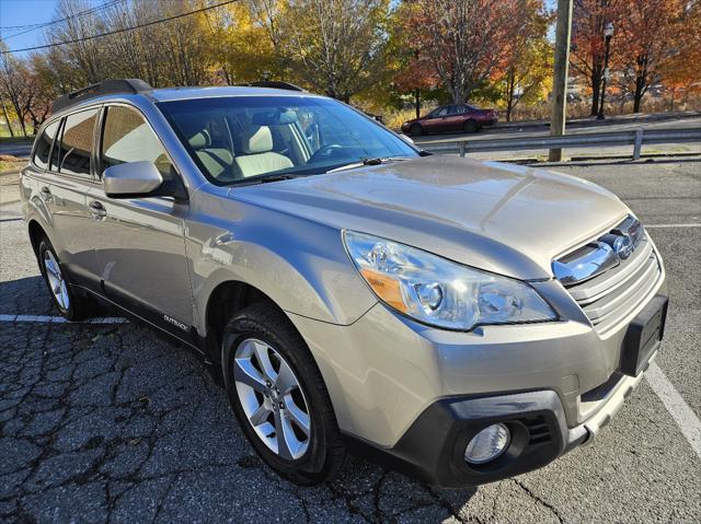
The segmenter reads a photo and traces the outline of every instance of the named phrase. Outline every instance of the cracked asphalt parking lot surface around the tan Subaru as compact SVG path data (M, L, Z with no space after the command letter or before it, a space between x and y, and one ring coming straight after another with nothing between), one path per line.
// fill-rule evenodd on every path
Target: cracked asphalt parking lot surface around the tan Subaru
M553 170L648 225L670 286L666 341L594 445L460 490L361 458L320 487L280 480L189 352L130 323L53 322L14 178L0 177L0 521L701 521L701 159Z

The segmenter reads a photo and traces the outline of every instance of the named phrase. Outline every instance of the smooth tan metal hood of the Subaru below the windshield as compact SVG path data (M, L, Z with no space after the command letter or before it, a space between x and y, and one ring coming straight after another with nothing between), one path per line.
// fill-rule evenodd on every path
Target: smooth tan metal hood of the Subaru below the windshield
M553 258L629 212L613 194L576 177L448 155L232 188L229 196L520 279L552 278Z

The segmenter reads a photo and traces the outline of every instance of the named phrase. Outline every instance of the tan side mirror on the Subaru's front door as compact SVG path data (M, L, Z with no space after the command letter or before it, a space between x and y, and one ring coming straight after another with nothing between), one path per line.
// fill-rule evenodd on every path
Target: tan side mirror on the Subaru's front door
M107 167L102 183L111 198L152 197L163 185L163 176L153 162L145 160Z

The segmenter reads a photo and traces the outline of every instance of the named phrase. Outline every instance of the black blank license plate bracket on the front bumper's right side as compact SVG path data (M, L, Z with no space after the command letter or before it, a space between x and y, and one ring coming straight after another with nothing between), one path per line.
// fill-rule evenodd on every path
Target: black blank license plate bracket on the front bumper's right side
M665 334L668 305L668 296L655 295L633 318L623 340L622 373L637 376L647 364L650 356L659 347Z

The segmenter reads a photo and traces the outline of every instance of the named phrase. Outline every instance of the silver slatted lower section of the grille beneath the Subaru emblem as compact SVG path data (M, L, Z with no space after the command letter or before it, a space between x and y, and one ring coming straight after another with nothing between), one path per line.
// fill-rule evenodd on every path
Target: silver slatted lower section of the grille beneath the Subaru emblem
M643 233L629 258L588 280L563 284L595 329L604 334L648 296L660 278L659 260Z

